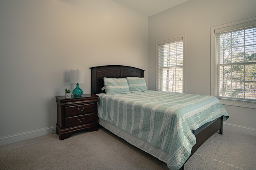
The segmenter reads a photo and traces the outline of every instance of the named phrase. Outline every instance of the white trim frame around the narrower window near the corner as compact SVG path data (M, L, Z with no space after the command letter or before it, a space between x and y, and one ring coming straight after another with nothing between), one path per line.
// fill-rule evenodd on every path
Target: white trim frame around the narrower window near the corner
M172 43L182 39L183 41L183 63L182 63L182 93L186 93L186 34L175 35L172 37L156 40L156 90L159 85L159 45L164 43Z

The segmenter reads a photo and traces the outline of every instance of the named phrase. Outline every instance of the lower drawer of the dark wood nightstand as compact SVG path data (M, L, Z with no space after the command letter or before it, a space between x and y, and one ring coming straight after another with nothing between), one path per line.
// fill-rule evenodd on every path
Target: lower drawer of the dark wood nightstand
M80 116L65 118L66 128L93 122L94 117L95 117L94 113L89 113L89 114L86 114L86 115L80 115Z

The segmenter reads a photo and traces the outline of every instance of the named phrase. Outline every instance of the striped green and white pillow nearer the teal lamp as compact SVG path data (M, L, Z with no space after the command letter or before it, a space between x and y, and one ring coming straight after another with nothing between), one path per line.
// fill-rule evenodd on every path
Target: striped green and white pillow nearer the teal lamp
M103 78L106 94L130 93L126 78Z

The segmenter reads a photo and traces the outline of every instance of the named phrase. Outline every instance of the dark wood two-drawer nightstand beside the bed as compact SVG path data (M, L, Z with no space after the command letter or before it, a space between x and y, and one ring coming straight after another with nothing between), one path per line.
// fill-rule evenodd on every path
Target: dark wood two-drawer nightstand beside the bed
M98 96L82 94L79 97L56 96L57 124L56 133L60 140L69 138L73 133L88 129L98 130Z

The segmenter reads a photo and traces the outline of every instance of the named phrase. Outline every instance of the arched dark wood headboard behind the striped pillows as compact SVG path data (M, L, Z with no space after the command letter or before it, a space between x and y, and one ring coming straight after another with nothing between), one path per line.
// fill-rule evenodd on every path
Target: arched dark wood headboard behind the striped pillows
M131 66L108 65L91 67L91 94L105 93L103 78L143 77L144 71Z

